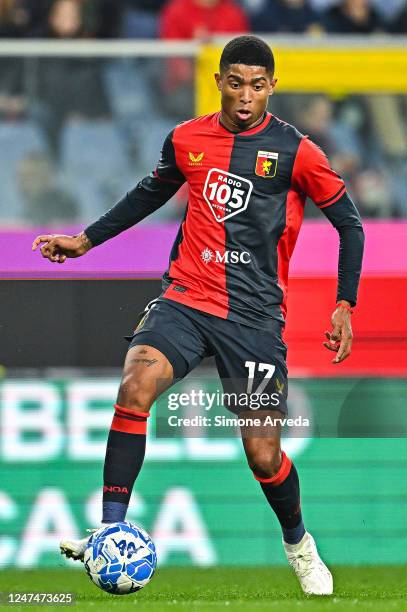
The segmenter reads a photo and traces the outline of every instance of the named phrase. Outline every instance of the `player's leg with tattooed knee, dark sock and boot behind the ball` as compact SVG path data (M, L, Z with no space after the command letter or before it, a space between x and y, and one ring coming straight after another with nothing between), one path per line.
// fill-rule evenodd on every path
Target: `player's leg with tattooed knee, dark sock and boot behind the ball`
M147 345L129 349L107 441L102 524L125 519L133 485L144 460L150 408L172 381L172 365L159 350ZM61 553L83 560L89 537L63 540Z

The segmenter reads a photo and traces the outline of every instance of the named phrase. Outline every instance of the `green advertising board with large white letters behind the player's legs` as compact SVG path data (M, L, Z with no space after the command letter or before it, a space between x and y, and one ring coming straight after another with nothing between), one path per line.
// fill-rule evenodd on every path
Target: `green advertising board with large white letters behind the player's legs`
M3 566L60 566L59 539L99 524L118 382L82 372L0 385ZM186 393L219 387L207 377L180 384ZM396 378L290 382L290 415L311 426L288 431L283 446L299 469L305 523L329 563L407 563L406 398L407 381ZM161 402L154 412L163 419L165 409ZM205 428L196 437L185 427L165 437L158 427L153 415L128 518L151 532L161 563L283 563L276 519L238 437Z

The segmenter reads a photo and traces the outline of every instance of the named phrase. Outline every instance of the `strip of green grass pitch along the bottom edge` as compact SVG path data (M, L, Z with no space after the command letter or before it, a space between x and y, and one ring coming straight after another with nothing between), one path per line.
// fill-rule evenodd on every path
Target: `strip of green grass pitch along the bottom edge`
M18 610L407 610L407 568L333 568L335 594L306 597L289 568L163 568L139 593L107 595L85 572L71 569L3 570L1 591L75 593L74 606L4 606ZM3 608L3 606L1 606Z

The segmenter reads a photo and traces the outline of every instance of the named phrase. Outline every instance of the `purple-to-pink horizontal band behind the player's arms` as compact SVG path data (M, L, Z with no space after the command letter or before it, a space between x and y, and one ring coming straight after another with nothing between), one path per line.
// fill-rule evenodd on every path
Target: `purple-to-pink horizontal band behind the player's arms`
M312 204L311 204L312 206ZM0 279L160 278L168 266L178 223L143 223L98 246L80 259L56 266L31 251L46 227L0 229ZM363 275L407 273L406 221L364 221L366 247ZM83 227L58 228L72 235ZM304 221L290 263L292 277L336 276L338 234L326 219Z

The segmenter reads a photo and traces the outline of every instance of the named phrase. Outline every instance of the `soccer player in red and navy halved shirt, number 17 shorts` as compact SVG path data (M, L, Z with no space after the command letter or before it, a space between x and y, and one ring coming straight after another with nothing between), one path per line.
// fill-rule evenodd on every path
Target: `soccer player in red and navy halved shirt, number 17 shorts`
M277 405L256 411L260 428L242 428L244 450L281 524L283 546L303 591L329 595L332 576L305 530L297 470L280 448L281 428L270 425L263 435L263 424L287 412L282 331L289 260L306 198L340 236L336 306L324 342L336 352L334 364L351 352L363 229L324 153L267 112L276 85L269 46L254 36L233 39L215 79L220 112L175 127L154 172L82 233L38 236L33 249L44 243L43 257L57 263L80 257L163 206L188 183L189 202L162 293L135 330L125 359L107 442L102 523L126 516L144 459L147 418L160 391L214 355L225 390L261 389L278 397ZM237 405L228 409L253 416ZM83 559L86 543L87 538L63 541L61 551Z

